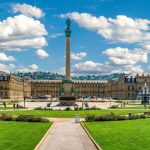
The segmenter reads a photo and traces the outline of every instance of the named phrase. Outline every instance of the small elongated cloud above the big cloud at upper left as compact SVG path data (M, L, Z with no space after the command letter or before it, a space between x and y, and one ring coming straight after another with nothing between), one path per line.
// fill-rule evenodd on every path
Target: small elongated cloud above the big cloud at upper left
M28 17L41 18L42 16L44 16L44 13L41 9L25 3L12 5L12 10L14 13L21 12L23 15L26 15Z

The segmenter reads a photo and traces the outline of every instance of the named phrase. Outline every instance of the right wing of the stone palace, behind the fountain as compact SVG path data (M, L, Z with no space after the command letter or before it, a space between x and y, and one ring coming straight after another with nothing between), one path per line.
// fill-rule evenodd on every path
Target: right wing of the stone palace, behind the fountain
M104 96L112 99L137 99L145 82L150 87L150 74L133 73L108 81L104 86Z

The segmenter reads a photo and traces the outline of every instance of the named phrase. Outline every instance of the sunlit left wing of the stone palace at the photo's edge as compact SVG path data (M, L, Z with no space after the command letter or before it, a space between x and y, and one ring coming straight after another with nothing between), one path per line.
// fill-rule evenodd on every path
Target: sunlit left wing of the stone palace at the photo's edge
M22 99L31 97L31 84L28 80L20 79L14 75L0 72L0 98Z

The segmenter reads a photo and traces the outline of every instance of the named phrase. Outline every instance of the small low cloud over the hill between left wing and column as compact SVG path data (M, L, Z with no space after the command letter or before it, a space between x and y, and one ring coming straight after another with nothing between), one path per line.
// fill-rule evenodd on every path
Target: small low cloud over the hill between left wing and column
M28 67L20 65L17 70L19 72L35 72L38 69L39 67L36 64L32 64L32 65L29 65Z

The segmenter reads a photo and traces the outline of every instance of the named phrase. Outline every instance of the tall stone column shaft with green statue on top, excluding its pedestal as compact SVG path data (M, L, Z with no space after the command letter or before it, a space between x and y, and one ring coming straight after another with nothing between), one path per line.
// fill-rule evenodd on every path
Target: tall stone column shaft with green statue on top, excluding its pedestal
M66 20L66 80L71 80L70 77L70 37L71 37L71 21L69 18Z

